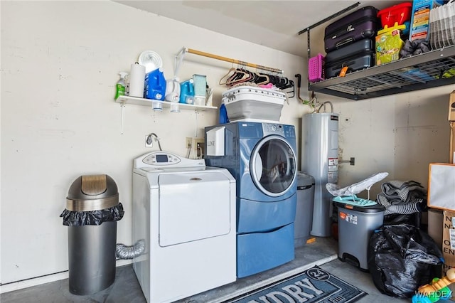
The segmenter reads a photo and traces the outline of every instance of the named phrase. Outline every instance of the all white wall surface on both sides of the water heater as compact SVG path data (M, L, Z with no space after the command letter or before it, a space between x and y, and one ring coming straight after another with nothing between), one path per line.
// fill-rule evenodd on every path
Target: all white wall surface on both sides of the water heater
M85 174L116 181L125 216L117 242L131 243L132 160L154 149L144 136L155 132L163 149L186 154L185 137L203 137L217 111L153 112L127 105L124 133L114 102L119 71L128 71L143 50L164 62L186 46L250 63L281 68L306 78L306 59L223 36L111 1L1 1L1 284L68 270L67 227L59 218L72 182ZM302 36L302 47L306 37ZM179 74L207 75L215 87L232 65L187 54ZM301 97L306 98L306 83ZM455 87L350 101L331 100L340 113L340 183L377 171L389 179L426 184L428 163L449 159L448 94ZM296 98L280 122L294 124L310 112ZM298 142L297 146L300 146Z

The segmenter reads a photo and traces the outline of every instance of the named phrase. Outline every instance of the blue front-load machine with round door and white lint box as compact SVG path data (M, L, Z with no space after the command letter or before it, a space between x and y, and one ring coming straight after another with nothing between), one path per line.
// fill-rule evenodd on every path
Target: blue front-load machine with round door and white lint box
M294 260L295 127L265 122L205 127L205 152L207 166L226 168L236 180L237 277Z

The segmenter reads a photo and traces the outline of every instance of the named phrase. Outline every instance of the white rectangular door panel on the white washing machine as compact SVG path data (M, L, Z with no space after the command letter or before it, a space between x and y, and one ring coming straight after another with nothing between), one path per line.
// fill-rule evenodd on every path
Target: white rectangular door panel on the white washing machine
M217 171L160 174L159 245L230 233L230 195L230 180Z

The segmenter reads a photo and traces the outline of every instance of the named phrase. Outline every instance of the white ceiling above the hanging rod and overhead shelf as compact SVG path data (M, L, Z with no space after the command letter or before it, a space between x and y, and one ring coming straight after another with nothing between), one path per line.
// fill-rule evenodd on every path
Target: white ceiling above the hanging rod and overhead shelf
M306 33L299 35L299 31L357 2L360 2L360 5L355 9L368 5L375 6L376 9L385 9L403 2L397 0L114 1L302 57L307 55L307 36ZM346 14L350 14L355 9ZM323 41L323 29L334 20L336 19L311 30L311 43L314 37ZM313 47L311 48L311 53L321 51L314 52Z

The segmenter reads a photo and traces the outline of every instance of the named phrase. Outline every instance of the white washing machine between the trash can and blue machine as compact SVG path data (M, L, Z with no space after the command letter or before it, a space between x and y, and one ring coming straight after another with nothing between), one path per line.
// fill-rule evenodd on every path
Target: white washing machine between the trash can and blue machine
M133 260L149 303L173 302L236 278L235 179L153 151L134 159L133 240L145 250Z

